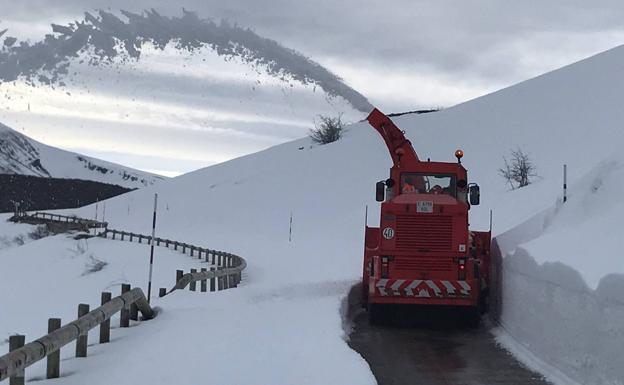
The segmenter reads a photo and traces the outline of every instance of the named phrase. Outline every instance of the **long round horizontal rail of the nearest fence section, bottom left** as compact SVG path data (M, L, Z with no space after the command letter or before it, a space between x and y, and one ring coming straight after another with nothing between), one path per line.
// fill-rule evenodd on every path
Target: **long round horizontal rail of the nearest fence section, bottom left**
M0 357L0 381L20 374L23 377L25 368L59 351L63 346L78 340L81 336L87 335L89 330L106 322L114 314L129 309L131 305L137 306L137 309L143 314L143 319L154 317L154 311L147 303L143 291L134 288L60 329ZM86 343L84 345L86 355Z

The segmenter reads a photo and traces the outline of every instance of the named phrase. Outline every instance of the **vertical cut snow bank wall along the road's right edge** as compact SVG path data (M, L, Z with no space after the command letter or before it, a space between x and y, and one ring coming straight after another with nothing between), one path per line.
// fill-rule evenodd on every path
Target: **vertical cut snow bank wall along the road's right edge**
M513 339L570 379L624 384L624 275L605 276L593 290L576 270L538 264L518 247L539 235L556 211L496 237L492 314Z

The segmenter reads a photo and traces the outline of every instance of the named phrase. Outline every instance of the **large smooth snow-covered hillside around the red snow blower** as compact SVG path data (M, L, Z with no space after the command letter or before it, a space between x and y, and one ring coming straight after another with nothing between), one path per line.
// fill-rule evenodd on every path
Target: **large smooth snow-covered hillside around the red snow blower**
M456 148L465 150L483 198L471 224L487 228L492 208L504 257L499 332L510 338L501 341L529 351L560 383L624 384L624 266L613 228L624 216L616 152L624 144L623 62L618 47L441 112L395 119L423 159L452 161ZM510 192L497 169L518 147L540 178ZM564 163L570 191L562 205ZM342 301L361 274L365 205L377 223L374 183L390 166L381 138L358 123L336 143L285 143L109 200L111 226L146 233L157 192L159 235L231 250L248 270L236 290L159 300L159 318L106 347L114 353L102 348L86 367L71 364L65 383L103 383L112 365L120 384L171 383L179 373L172 366L185 369L182 382L197 383L205 362L214 382L372 383L362 358L337 341ZM150 353L145 365L117 359L175 346L192 354Z

